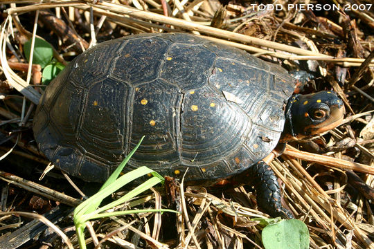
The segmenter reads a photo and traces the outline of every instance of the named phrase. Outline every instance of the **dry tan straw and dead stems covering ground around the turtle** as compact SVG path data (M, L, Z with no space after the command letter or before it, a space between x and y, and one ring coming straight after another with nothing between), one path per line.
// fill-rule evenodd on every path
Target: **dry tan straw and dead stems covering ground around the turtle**
M12 216L10 211L44 214L52 210L48 219L77 245L69 210L64 207L77 205L81 197L66 187L60 172L38 180L48 162L37 150L31 127L44 86L39 65L24 59L23 44L35 36L46 39L55 48L54 58L66 64L98 42L161 32L204 35L289 71L308 71L314 80L304 87L305 93L333 89L339 94L347 110L344 124L313 142L290 145L271 167L283 182L285 203L308 225L311 248L374 248L374 6L371 0L299 1L324 8L348 4L350 10L295 10L287 8L296 4L292 1L266 2L283 8L274 11L239 0L0 3L2 248L22 243L66 248L52 232L42 234L45 228L30 240L28 233L37 222L28 223L28 228L28 218L21 213ZM79 181L78 185L85 186ZM171 186L167 194L174 194L170 199L175 205L170 208L179 210L179 216L145 213L95 221L89 225L87 243L111 248L262 248L261 226L251 218L266 214L256 210L249 189L222 192ZM173 203L167 199L163 190L153 190L118 209Z

